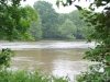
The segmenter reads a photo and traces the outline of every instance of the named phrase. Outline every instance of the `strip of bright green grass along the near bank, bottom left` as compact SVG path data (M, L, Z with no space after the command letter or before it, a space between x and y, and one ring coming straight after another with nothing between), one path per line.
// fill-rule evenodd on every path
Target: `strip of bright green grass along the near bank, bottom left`
M67 77L41 74L40 71L0 71L0 82L69 82Z

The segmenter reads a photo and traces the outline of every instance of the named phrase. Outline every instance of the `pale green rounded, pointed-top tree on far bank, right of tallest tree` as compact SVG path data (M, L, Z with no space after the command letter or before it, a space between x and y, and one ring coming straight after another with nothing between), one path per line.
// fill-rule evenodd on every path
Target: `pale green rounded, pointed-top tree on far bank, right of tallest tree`
M76 26L74 23L66 19L66 21L58 27L58 35L62 39L75 39Z

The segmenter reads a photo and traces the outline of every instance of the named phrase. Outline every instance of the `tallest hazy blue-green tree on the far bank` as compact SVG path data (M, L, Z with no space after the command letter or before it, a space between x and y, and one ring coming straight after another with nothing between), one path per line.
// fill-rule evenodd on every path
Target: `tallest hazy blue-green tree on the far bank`
M42 19L43 38L56 37L56 24L58 14L53 9L52 3L46 1L36 1L33 7Z

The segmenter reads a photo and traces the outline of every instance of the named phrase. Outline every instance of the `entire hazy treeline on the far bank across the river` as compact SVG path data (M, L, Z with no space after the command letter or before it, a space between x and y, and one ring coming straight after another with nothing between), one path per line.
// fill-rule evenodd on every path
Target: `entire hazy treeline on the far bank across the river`
M30 33L37 39L85 39L86 24L79 19L78 10L70 13L57 13L53 4L36 1L33 4L38 14L37 22L32 22Z

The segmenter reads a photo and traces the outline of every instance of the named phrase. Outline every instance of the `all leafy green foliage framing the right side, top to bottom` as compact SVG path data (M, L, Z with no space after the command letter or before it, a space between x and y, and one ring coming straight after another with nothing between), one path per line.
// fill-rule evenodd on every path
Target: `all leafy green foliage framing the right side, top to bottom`
M80 0L75 1L80 2ZM73 4L73 0L66 0L65 3L57 0L56 4L59 5L59 2L64 7ZM80 5L76 5L76 8L80 11L81 19L87 25L92 27L88 35L88 42L92 39L96 42L96 47L86 51L84 58L100 62L90 66L88 71L79 74L77 82L110 82L110 0L94 0L89 10L82 9ZM102 10L96 12L98 8L102 8Z

